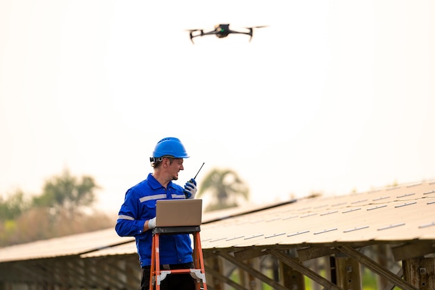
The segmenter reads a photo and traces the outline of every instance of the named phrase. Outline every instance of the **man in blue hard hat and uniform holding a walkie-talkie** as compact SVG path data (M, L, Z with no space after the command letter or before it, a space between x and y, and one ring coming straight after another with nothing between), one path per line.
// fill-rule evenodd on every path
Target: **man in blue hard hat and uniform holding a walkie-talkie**
M147 179L131 187L125 195L115 230L120 236L134 236L142 280L140 289L149 289L152 230L156 227L156 200L195 198L197 186L190 179L183 187L174 184L179 171L184 170L183 159L188 154L178 138L169 137L158 141L150 158L154 172ZM160 261L163 270L193 268L192 243L188 234L160 236ZM167 275L161 289L195 289L190 274Z

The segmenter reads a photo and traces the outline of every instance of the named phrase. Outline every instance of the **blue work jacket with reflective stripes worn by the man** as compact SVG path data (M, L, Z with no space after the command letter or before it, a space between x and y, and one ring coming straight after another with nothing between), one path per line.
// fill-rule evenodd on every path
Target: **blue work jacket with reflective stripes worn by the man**
M185 199L183 188L170 182L164 188L155 178L148 175L147 179L130 188L115 225L119 236L134 236L140 266L151 265L151 230L143 230L146 220L156 216L157 200ZM170 234L160 236L161 264L182 264L192 261L192 242L188 234Z

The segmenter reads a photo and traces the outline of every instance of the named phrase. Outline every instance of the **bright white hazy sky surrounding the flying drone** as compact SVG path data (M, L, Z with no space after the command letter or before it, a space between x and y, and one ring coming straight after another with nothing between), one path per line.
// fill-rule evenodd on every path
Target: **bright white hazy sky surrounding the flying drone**
M69 168L117 211L156 142L254 202L435 178L433 1L0 1L0 194ZM195 38L186 29L268 25Z

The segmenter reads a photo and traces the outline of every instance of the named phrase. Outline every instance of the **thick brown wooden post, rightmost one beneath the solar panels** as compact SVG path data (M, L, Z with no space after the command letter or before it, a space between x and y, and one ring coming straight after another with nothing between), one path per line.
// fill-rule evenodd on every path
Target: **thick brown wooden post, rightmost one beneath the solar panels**
M435 289L435 258L402 261L404 280L420 290Z

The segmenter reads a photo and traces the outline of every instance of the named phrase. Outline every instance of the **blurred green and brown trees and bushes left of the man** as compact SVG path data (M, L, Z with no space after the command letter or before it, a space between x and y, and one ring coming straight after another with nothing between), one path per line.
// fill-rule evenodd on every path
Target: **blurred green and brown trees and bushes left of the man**
M97 188L92 177L78 178L64 170L48 179L30 202L22 191L0 197L0 247L113 226L113 218L90 211Z

